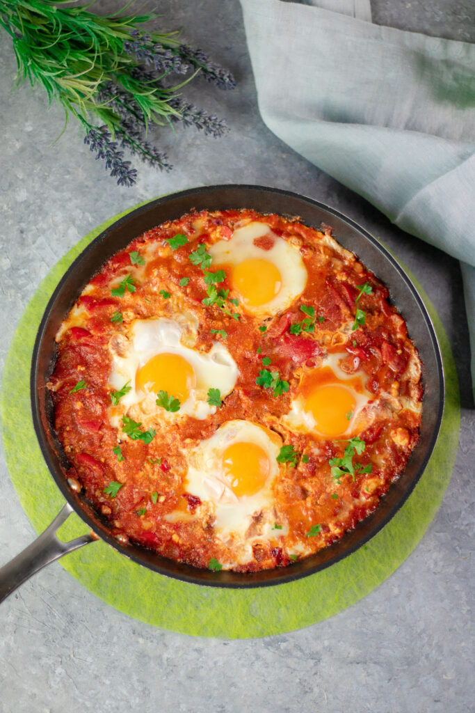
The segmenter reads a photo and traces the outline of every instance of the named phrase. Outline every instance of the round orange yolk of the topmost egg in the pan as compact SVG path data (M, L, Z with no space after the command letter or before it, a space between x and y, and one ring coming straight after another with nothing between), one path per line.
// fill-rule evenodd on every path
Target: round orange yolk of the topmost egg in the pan
M232 281L244 301L258 307L276 297L281 289L282 276L273 262L252 257L234 267Z

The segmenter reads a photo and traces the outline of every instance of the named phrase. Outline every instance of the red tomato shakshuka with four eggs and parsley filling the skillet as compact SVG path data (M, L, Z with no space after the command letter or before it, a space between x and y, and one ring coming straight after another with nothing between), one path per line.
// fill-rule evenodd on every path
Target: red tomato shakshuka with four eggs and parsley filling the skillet
M56 336L69 483L122 542L198 568L330 545L419 438L421 363L388 297L298 218L204 210L145 232Z

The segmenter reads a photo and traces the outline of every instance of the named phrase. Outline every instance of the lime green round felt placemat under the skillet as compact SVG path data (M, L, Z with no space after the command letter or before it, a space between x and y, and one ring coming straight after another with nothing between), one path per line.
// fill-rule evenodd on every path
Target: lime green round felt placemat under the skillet
M38 533L51 523L64 500L43 461L31 420L29 373L36 332L48 299L71 262L130 210L86 235L43 279L21 317L6 359L0 399L6 462L21 505ZM179 582L140 567L101 540L60 560L63 568L90 592L135 619L174 632L227 639L280 634L315 624L380 585L412 552L439 508L459 441L459 386L449 341L427 295L412 279L442 351L444 416L434 453L414 492L367 545L315 575L251 590ZM73 513L60 535L67 539L85 531L87 526Z

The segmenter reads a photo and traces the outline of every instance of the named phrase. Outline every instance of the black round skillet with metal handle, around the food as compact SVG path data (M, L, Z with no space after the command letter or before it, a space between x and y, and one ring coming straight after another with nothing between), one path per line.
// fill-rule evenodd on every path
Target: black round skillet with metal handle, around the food
M286 568L250 574L223 571L214 573L167 560L138 545L120 542L120 538L115 539L110 534L107 522L100 517L83 494L71 489L64 474L68 461L53 430L51 396L46 389L46 382L55 362L54 337L58 327L73 307L85 284L111 255L122 250L146 230L166 220L179 218L192 208L197 210L254 208L263 213L277 212L299 216L306 225L315 228L320 228L322 222L331 225L336 240L348 250L355 252L390 289L392 302L397 305L406 320L409 336L419 349L422 359L424 406L420 441L412 452L404 473L396 483L392 484L377 510L362 520L355 530L347 533L330 547ZM372 235L355 222L310 198L303 198L284 190L252 185L195 188L153 200L120 218L86 247L63 275L41 320L31 364L33 424L51 475L68 504L38 540L0 570L0 600L44 565L97 539L92 533L71 543L61 543L56 538L59 525L73 510L87 523L93 533L97 533L101 539L126 557L155 572L184 582L215 587L248 588L286 583L318 572L354 552L372 538L399 510L427 466L439 432L443 406L442 359L424 304L414 285L394 258Z

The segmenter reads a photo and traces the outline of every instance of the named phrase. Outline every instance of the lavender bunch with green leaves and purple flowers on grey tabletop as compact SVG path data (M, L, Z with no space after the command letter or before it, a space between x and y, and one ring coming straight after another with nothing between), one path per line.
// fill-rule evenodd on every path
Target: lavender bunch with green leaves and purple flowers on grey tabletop
M0 0L0 26L11 36L18 64L16 86L42 86L66 120L78 119L85 143L119 185L137 178L120 148L160 170L172 168L167 155L145 140L150 123L181 121L215 137L226 132L224 120L178 91L197 73L218 88L234 88L231 73L180 43L177 32L142 32L154 14L98 16L90 4L66 7L66 1ZM168 86L169 75L190 73Z

